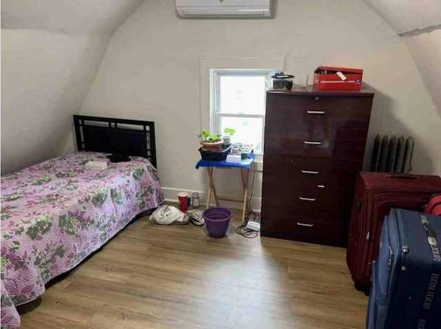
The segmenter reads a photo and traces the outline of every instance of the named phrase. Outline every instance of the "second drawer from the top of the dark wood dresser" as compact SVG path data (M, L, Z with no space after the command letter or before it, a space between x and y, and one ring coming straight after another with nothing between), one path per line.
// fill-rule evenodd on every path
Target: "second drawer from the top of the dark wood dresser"
M265 154L362 161L366 140L367 131L364 130L296 130L291 126L265 126Z

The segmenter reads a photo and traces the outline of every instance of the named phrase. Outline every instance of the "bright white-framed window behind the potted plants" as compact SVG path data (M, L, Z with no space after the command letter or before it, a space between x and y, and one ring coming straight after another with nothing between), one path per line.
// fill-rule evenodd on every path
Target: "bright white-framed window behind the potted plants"
M210 130L223 134L236 130L232 143L252 143L255 153L263 153L265 92L272 70L210 70Z

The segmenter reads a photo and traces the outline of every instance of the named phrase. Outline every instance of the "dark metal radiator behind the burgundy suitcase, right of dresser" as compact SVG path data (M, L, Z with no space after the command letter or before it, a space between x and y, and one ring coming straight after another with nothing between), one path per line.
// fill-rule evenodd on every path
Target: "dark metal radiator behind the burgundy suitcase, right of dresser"
M373 141L372 172L402 172L409 174L412 170L413 138L404 136L380 137Z

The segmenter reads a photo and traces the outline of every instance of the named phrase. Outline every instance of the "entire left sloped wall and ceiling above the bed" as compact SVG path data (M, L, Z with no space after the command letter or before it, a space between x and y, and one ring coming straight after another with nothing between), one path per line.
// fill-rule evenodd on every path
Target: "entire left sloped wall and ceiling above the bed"
M141 0L1 1L1 174L59 154L113 32Z

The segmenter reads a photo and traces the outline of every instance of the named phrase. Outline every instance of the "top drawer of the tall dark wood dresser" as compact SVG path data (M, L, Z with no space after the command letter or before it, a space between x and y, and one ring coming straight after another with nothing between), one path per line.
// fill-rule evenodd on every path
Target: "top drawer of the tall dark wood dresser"
M294 129L305 129L314 125L367 130L372 99L267 94L265 123L289 124Z

